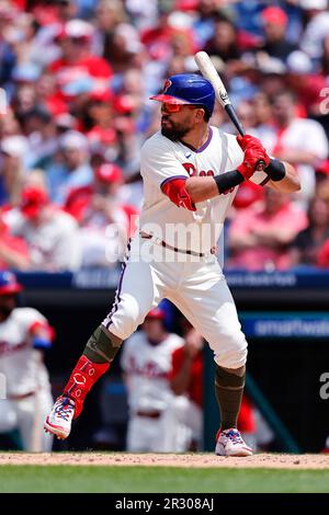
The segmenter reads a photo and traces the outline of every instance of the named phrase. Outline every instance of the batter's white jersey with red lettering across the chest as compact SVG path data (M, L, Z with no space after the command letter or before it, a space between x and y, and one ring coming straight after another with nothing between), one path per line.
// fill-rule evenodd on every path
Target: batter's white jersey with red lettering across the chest
M171 141L156 133L141 149L140 173L144 180L144 205L140 230L152 233L170 245L182 250L207 252L220 236L227 211L237 187L227 194L197 203L196 211L178 207L162 193L161 186L174 178L189 179L194 175L219 175L235 170L243 160L243 152L236 136L209 127L207 141L197 150L185 144ZM261 184L264 172L256 172L251 181ZM173 225L190 227L185 241L183 231L174 232Z

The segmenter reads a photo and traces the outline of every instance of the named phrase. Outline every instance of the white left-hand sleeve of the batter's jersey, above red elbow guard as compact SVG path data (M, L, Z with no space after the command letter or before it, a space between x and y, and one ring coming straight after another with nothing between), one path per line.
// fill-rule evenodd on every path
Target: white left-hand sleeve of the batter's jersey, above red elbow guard
M170 141L167 144L157 135L148 139L141 148L140 174L145 181L160 188L173 179L190 176L171 148Z

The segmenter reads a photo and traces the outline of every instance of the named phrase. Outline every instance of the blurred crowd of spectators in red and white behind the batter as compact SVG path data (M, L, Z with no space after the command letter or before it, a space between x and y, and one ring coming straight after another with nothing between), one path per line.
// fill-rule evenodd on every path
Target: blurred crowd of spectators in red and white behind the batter
M117 264L159 128L148 99L200 49L303 184L240 186L226 266L329 266L327 0L0 0L0 268ZM234 133L218 106L212 124Z

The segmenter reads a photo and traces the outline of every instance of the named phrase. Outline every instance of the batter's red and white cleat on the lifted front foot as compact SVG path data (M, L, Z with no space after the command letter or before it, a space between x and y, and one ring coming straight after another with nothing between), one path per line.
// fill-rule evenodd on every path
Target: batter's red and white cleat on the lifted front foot
M60 396L56 399L53 410L44 423L44 430L59 439L65 439L70 434L73 415L75 401Z

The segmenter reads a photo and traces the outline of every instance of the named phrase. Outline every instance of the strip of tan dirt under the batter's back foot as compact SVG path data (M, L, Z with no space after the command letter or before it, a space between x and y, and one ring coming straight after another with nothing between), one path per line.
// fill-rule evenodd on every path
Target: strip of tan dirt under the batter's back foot
M213 454L125 454L125 453L0 453L1 465L103 465L155 467L239 467L271 469L329 469L329 454L257 454L227 458Z

